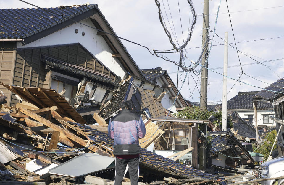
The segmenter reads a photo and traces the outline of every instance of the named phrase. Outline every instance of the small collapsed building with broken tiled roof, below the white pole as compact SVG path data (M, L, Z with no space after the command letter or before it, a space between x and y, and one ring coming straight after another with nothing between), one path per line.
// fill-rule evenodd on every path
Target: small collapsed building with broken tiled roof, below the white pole
M236 168L254 164L254 159L230 131L209 132L212 166L226 170L226 166Z

